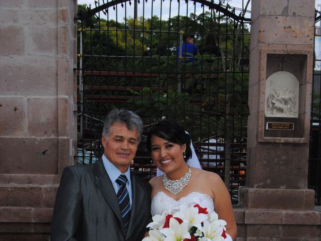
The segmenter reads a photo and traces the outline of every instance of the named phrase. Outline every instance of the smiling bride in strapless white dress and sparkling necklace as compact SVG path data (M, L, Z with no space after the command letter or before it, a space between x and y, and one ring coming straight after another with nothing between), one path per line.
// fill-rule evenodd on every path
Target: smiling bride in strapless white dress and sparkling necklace
M198 203L208 211L215 210L219 219L227 222L226 240L235 240L237 227L230 194L219 175L187 165L192 155L190 143L190 136L174 122L159 122L149 131L147 149L157 168L165 173L149 181L151 214L161 215L180 204Z

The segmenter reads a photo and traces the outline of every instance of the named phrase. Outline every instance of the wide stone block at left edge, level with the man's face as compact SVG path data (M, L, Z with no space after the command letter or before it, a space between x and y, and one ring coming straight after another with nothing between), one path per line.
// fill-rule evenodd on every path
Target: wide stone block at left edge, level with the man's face
M57 174L57 148L56 138L0 138L0 173Z

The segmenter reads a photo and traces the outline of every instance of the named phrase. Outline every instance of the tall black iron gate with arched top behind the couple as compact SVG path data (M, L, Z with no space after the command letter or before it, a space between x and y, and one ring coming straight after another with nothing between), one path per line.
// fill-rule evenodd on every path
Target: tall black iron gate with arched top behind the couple
M146 133L160 119L172 119L191 134L202 167L225 180L237 203L246 175L245 12L205 0L95 1L95 8L78 8L78 163L102 155L106 113L130 109L144 123L131 167L150 179L155 166ZM190 35L199 51L187 59L177 49ZM208 36L216 52L206 50Z

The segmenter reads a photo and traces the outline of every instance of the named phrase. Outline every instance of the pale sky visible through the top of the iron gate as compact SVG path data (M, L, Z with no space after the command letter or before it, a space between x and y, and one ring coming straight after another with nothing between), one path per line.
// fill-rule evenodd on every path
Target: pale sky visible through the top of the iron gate
M103 4L102 0L100 1L100 5ZM96 0L96 2L98 2L98 0ZM106 3L107 1L105 1ZM215 4L217 4L219 2L219 0L214 1ZM236 8L236 14L239 15L240 10L242 9L242 2L244 2L244 6L247 2L247 0L231 0L229 1L229 5L231 7L235 7ZM321 2L321 0L320 0ZM162 3L162 5L161 5ZM95 1L94 0L78 0L78 4L87 4L87 6L89 6L91 4L91 8L95 8ZM142 16L144 14L145 18L150 18L151 17L151 5L153 5L153 12L152 15L157 15L160 16L161 15L161 8L162 8L162 19L163 20L167 20L169 18L169 14L171 12L171 17L173 16L177 16L178 14L180 15L184 15L186 16L187 12L190 13L196 13L196 15L199 15L202 13L203 8L201 7L200 4L197 3L196 8L194 8L194 5L191 4L191 2L189 2L189 5L185 4L185 1L180 0L180 8L178 8L178 3L177 1L172 1L172 7L171 7L171 11L170 11L170 0L147 0L147 3L144 0L140 0L140 4L138 5L138 17ZM143 12L144 9L144 12ZM247 8L248 12L246 14L245 17L250 18L250 10L251 10L251 4L249 5L249 7ZM180 13L178 12L178 10L180 10ZM205 8L205 11L209 11L208 9ZM126 4L126 8L124 6L124 8L120 8L118 9L118 11L114 11L114 10L110 10L109 11L109 19L116 19L117 17L117 21L118 22L122 22L124 17L125 17L125 12L126 12L126 16L127 17L133 17L133 0L132 0L132 4L131 6L129 5L129 3L127 2ZM116 16L117 13L117 16ZM189 15L188 14L188 15ZM105 16L103 14L101 14L101 17L105 18Z

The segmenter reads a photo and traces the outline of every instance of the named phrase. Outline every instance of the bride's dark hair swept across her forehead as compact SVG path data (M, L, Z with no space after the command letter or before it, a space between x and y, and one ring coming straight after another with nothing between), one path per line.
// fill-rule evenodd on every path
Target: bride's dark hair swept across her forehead
M191 137L184 128L176 122L161 121L150 129L146 139L147 150L151 152L151 136L157 136L169 142L184 145L186 144L185 162L192 157Z

